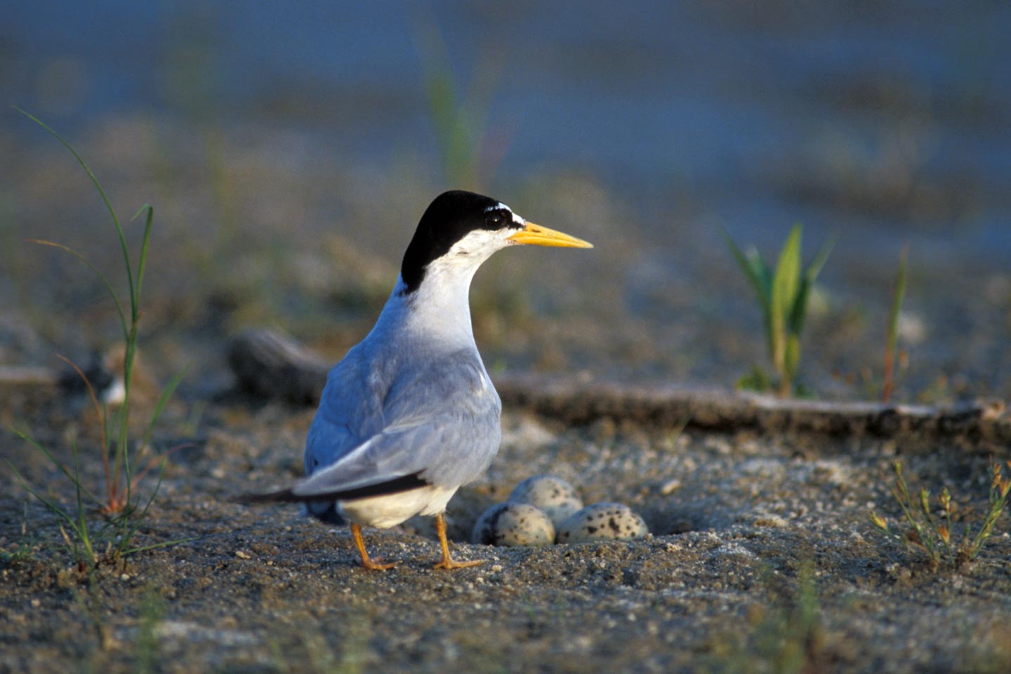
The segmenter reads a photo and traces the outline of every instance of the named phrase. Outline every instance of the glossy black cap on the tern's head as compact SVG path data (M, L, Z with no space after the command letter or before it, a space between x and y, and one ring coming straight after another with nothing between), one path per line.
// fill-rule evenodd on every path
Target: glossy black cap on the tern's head
M403 254L400 278L406 286L404 292L418 290L426 268L469 232L503 227L521 228L512 212L495 199L463 190L443 192L425 210Z

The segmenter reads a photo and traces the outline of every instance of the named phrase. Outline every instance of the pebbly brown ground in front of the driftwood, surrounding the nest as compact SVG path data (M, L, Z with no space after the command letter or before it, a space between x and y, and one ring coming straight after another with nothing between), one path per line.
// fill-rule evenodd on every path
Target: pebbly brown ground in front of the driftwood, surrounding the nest
M19 396L26 404L30 396ZM34 411L63 418L59 400ZM14 401L15 403L17 401ZM6 402L10 402L8 399ZM80 573L54 515L12 478L0 492L2 671L1007 671L1007 515L980 558L932 570L879 536L899 524L882 471L901 457L916 487L947 486L955 531L978 525L990 456L816 435L725 436L602 418L576 427L507 411L485 479L450 504L455 556L437 571L429 520L366 532L390 571L358 564L351 537L295 506L236 494L300 470L311 409L238 394L171 409L169 455L140 546L173 543ZM59 440L43 432L40 442ZM12 447L14 439L4 440ZM1002 454L1003 452L1003 454ZM70 484L19 446L15 465L67 504ZM64 457L66 458L66 456ZM100 484L100 463L85 467ZM484 508L522 479L572 481L586 503L617 500L648 523L640 541L548 548L467 543ZM142 490L150 490L153 477ZM92 526L100 517L92 513Z

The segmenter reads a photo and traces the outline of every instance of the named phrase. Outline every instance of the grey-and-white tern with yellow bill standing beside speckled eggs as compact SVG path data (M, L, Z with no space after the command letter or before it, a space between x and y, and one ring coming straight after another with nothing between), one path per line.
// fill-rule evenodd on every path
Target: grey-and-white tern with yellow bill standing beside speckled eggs
M453 559L445 518L453 494L487 470L501 440L501 401L474 341L469 291L482 263L517 245L593 248L487 196L437 196L375 325L327 376L305 441L305 477L244 500L301 502L325 522L350 521L370 570L396 562L369 557L362 526L434 515L442 548L435 568L480 564Z

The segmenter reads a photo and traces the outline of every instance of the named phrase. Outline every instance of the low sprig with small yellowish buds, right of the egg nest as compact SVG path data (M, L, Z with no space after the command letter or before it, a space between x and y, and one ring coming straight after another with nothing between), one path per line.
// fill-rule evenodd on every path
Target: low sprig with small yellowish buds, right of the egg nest
M1011 461L1007 466L1011 469ZM1011 478L1002 475L1001 465L995 463L990 467L990 502L983 524L975 535L972 527L967 526L961 543L952 543L951 495L947 488L941 489L937 497L938 510L934 512L931 510L929 491L921 489L915 498L910 493L902 475L902 462L893 463L892 470L895 479L890 490L902 509L906 526L904 531L894 531L884 517L871 510L870 521L875 527L884 536L925 554L927 563L935 571L945 563L958 570L973 562L993 533L1011 492Z

